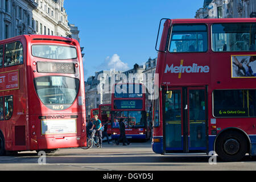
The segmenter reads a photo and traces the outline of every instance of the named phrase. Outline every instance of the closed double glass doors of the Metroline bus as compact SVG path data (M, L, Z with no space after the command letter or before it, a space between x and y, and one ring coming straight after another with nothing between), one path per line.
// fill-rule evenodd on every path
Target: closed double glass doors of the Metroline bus
M207 151L206 88L170 88L163 94L164 151Z

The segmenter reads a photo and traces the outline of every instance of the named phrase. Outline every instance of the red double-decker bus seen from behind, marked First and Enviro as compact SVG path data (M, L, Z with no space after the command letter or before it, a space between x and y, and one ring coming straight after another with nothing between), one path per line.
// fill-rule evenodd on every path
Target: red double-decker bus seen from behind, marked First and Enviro
M0 155L86 146L83 83L75 39L20 35L1 40Z

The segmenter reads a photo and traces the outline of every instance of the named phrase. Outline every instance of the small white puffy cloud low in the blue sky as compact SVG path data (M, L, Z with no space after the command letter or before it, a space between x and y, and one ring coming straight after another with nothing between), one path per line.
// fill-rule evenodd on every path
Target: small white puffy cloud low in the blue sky
M112 57L106 57L104 63L102 63L99 68L105 70L115 69L120 71L129 69L128 64L123 63L123 61L120 60L120 56L118 56L116 53Z

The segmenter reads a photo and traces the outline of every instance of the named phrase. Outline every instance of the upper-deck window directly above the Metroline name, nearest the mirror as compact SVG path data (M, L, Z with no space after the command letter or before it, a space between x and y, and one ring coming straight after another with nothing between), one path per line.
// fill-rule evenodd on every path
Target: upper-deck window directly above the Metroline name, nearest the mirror
M179 24L172 27L170 52L206 52L207 45L205 24Z

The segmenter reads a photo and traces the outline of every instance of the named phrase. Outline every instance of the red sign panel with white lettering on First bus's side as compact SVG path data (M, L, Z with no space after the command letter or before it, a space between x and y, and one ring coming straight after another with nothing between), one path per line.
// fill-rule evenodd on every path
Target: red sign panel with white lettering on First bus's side
M0 73L0 92L19 89L19 71Z

